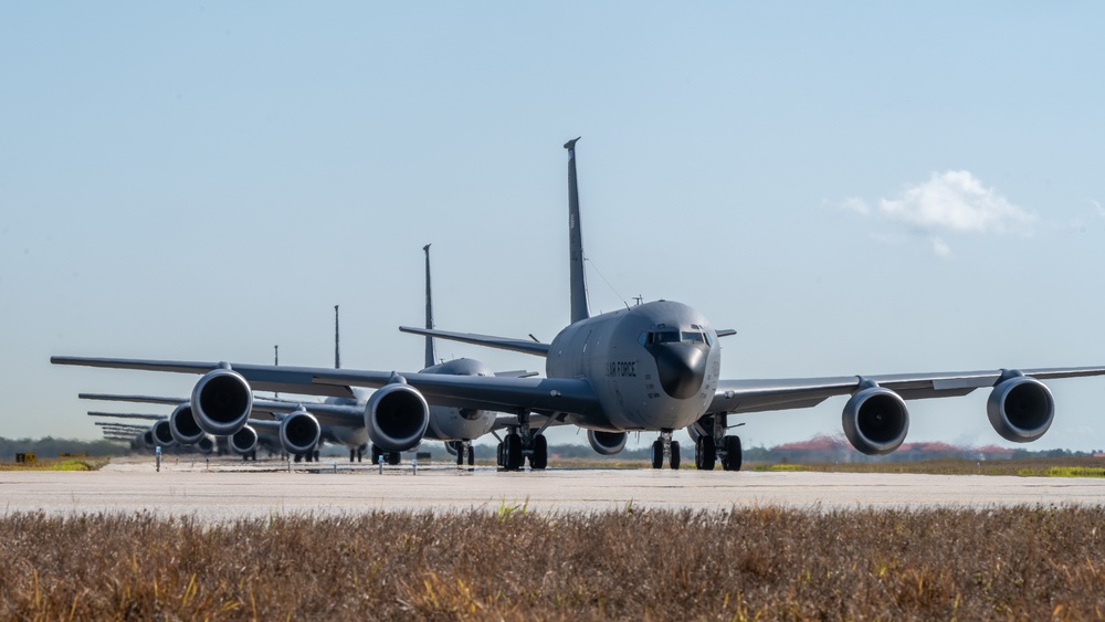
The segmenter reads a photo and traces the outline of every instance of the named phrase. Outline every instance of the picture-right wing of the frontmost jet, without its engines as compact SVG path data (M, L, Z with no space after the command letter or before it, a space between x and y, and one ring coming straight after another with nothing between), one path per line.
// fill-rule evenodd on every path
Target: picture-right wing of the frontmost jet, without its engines
M734 414L812 408L833 396L846 396L863 381L885 387L905 400L966 396L976 389L994 386L1004 370L895 373L886 376L840 376L829 378L786 378L779 380L722 380L711 402L709 412ZM1103 376L1105 367L1056 367L1021 369L1038 380Z

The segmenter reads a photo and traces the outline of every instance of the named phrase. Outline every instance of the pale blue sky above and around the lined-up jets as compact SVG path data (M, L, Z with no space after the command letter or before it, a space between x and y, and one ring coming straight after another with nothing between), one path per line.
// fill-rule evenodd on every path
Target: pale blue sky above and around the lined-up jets
M592 313L693 305L739 330L724 377L1105 363L1103 13L4 4L0 434L93 437L78 391L194 381L51 355L325 366L335 304L345 367L418 369L428 242L440 327L551 339L575 136ZM1051 386L1033 446L1105 449L1105 379ZM913 402L908 440L1001 444L985 400Z

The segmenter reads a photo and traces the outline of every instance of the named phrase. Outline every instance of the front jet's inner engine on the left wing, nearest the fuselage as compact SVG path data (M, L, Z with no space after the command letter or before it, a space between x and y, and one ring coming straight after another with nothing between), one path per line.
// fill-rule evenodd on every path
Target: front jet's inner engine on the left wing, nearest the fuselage
M430 423L430 405L404 380L376 390L365 404L365 429L372 444L385 452L418 446Z

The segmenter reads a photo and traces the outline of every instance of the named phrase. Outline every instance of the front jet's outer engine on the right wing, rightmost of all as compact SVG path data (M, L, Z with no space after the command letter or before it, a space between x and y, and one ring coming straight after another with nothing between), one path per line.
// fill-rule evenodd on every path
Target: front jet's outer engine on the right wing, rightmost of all
M986 400L986 414L1002 439L1031 443L1051 428L1055 399L1043 382L1019 371L1013 373L1015 376L994 384Z

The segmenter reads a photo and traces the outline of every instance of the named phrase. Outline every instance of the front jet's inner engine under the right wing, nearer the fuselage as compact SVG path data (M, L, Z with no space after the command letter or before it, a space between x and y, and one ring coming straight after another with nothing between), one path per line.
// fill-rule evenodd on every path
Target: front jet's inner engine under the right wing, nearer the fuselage
M909 409L894 391L869 387L848 400L842 422L853 447L867 455L886 455L905 441Z

